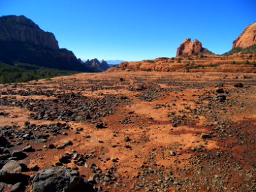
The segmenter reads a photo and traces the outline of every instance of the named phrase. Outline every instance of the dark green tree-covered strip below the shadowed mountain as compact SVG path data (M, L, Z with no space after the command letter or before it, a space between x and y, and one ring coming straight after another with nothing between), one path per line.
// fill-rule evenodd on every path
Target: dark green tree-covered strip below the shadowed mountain
M20 83L56 76L67 76L78 72L54 68L38 67L27 63L9 65L0 62L0 83Z

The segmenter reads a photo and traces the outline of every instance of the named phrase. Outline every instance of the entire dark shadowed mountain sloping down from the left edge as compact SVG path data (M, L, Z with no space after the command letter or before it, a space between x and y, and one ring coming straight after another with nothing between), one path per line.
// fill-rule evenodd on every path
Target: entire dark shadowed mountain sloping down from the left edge
M0 17L0 61L15 61L40 67L93 71L77 60L72 51L60 49L52 33L45 32L24 16Z

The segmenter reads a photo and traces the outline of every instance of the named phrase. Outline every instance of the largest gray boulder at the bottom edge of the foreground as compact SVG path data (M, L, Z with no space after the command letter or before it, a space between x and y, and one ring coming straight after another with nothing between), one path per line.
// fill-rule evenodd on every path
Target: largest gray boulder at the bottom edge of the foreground
M83 180L77 171L66 166L49 166L36 173L32 192L94 191L93 186Z

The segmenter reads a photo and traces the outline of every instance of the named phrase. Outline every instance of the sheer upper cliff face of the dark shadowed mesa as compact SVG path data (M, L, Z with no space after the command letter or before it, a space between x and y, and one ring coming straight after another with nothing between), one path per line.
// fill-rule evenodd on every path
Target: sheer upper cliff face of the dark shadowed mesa
M0 17L0 40L26 42L50 49L59 49L52 33L45 32L32 20L21 16Z

